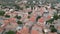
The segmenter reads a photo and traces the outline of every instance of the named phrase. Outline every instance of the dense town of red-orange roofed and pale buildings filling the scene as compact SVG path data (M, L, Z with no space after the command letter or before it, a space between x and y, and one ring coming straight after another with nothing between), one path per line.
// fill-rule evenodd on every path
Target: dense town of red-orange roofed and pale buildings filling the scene
M24 5L24 4L23 4ZM46 21L52 19L54 14L58 12L60 15L60 3L56 3L52 7L51 3L46 5L35 5L33 9L23 8L23 10L15 11L14 9L0 7L0 10L5 11L5 15L10 15L10 18L0 17L0 33L12 30L16 31L16 34L58 34L60 33L60 19L54 20L54 26L57 32L51 32L49 26L52 24L46 24ZM58 10L58 11L57 11ZM31 13L30 13L31 12ZM29 14L30 13L30 14ZM15 18L15 16L21 16L21 19ZM40 18L36 21L36 18ZM29 18L28 18L29 17ZM21 21L22 24L18 24L17 21ZM43 32L44 31L44 32Z

